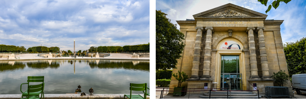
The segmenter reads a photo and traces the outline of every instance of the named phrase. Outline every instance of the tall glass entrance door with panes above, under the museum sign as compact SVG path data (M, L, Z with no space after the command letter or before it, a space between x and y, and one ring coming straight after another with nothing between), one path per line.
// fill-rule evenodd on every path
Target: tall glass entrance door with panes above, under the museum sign
M220 88L242 90L242 79L239 72L239 55L222 55Z

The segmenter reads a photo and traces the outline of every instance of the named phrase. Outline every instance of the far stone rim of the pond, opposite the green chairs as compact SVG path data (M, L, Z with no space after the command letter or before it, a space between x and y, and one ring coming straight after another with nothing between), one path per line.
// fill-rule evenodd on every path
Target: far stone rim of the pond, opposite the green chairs
M127 61L150 61L150 59L125 59L125 58L46 58L46 59L6 59L0 61L33 61L33 60L127 60ZM1 99L1 98L0 98Z

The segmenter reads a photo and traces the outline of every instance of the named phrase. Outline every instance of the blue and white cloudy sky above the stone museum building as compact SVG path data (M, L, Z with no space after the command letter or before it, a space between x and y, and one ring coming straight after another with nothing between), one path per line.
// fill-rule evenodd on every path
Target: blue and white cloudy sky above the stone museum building
M269 0L267 6L274 0ZM169 19L174 24L176 20L194 19L192 15L221 5L232 3L256 12L266 14L268 7L262 5L257 0L156 0L156 10L162 10L168 14ZM282 3L277 9L273 7L266 14L267 19L284 20L281 25L282 41L296 42L306 37L306 1L292 0L287 5ZM177 25L178 26L178 25ZM179 26L178 26L179 29Z

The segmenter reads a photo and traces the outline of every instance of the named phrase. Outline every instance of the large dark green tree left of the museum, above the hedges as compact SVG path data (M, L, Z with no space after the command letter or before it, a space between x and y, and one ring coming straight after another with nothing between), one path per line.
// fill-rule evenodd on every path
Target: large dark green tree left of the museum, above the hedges
M177 59L182 57L185 47L184 34L166 15L156 10L156 69L176 69Z

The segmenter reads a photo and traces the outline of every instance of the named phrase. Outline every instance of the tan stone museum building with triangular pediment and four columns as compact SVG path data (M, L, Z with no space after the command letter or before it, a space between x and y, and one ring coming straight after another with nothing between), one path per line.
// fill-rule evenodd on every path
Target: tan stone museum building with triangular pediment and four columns
M173 73L188 75L181 87L204 88L207 83L207 88L253 90L256 84L264 93L266 86L278 86L273 72L288 75L280 33L284 20L266 19L263 13L230 3L193 17L177 21L186 45ZM170 88L177 83L172 76ZM284 86L291 87L290 80Z

